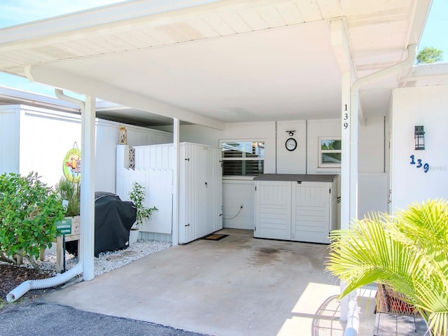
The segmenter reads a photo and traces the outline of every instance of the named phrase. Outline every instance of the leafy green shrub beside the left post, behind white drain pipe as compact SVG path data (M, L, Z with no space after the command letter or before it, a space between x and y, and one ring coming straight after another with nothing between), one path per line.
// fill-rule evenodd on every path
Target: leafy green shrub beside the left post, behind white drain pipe
M63 218L62 200L37 173L0 175L0 251L22 255L39 269L35 260L51 246L55 223Z

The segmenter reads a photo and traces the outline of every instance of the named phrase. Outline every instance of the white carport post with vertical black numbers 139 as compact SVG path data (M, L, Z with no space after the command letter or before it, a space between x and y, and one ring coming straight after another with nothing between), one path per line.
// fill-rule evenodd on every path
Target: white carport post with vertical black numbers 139
M356 97L357 99L357 97ZM358 102L351 97L351 71L342 73L341 228L358 218ZM341 282L341 292L346 287ZM349 313L349 296L341 300L341 320Z

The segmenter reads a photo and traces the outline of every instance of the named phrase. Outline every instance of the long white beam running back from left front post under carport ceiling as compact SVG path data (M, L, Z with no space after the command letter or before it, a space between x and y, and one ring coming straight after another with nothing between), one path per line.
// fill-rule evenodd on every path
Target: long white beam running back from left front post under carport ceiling
M54 69L48 69L43 65L29 66L26 72L29 80L51 85L53 87L59 87L63 90L89 94L93 97L99 97L117 104L132 106L135 109L158 114L160 116L179 118L188 123L204 125L217 130L223 130L225 127L225 124L221 121L200 116L197 113L181 109L165 102L160 102L151 97L142 96L141 94L123 90L122 88L111 86L108 83L98 82L97 80L79 78L73 76L71 73L66 73L61 70L55 71Z

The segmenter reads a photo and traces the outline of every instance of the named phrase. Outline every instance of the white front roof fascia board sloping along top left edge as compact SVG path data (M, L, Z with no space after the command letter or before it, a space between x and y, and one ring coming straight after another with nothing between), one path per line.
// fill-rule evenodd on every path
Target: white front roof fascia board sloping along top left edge
M165 0L139 0L93 8L55 18L28 22L0 29L0 49L20 50L26 43L43 46L68 42L83 34L99 36L136 29L139 25L167 25L179 20L194 20L204 15L234 13L259 8L278 0L178 0L171 6Z

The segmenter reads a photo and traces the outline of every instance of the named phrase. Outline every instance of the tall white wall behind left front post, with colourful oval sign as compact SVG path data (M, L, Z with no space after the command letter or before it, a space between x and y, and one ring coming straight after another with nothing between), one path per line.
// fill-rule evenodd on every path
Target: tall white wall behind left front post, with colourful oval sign
M42 181L55 185L62 176L62 162L69 149L80 143L80 116L29 106L1 106L0 172L38 172ZM15 111L15 113L6 113ZM95 190L116 192L116 145L124 124L97 120ZM172 142L172 134L125 125L130 146ZM19 145L20 139L20 145ZM19 165L20 162L20 165Z

